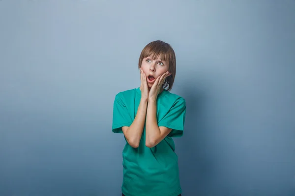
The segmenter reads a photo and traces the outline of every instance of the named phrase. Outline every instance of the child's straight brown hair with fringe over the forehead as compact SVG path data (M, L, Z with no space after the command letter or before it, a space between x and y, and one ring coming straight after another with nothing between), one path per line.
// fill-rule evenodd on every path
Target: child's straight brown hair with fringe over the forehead
M169 68L168 71L171 73L168 77L166 77L163 88L167 88L167 91L170 91L172 89L174 78L176 75L176 56L175 52L170 46L170 44L165 43L160 40L156 40L153 42L150 42L141 52L139 61L138 61L138 68L141 68L141 64L143 62L144 58L147 58L148 56L151 56L152 58L157 58L158 56L161 56L161 59L163 61L169 62Z

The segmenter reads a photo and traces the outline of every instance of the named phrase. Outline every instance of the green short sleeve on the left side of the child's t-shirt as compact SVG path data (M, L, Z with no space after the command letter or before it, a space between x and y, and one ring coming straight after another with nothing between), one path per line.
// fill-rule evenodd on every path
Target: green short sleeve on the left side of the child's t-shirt
M124 99L120 94L117 94L114 101L113 107L113 125L112 131L114 133L123 133L122 126L130 126L132 119L128 113L128 109L124 103Z

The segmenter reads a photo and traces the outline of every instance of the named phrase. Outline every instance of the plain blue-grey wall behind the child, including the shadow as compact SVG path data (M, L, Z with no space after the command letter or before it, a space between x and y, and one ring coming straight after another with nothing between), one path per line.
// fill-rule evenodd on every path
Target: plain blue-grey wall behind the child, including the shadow
M0 195L119 196L113 101L158 39L183 196L295 196L294 0L0 0Z

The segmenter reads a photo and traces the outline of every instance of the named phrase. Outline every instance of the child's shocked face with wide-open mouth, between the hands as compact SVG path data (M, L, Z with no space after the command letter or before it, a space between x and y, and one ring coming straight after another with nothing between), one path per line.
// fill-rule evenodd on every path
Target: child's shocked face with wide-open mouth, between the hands
M158 56L157 59L152 59L150 56L143 59L142 69L147 76L148 87L150 88L153 83L156 81L159 75L168 71L169 62L161 60L161 57ZM167 76L171 75L169 73Z

